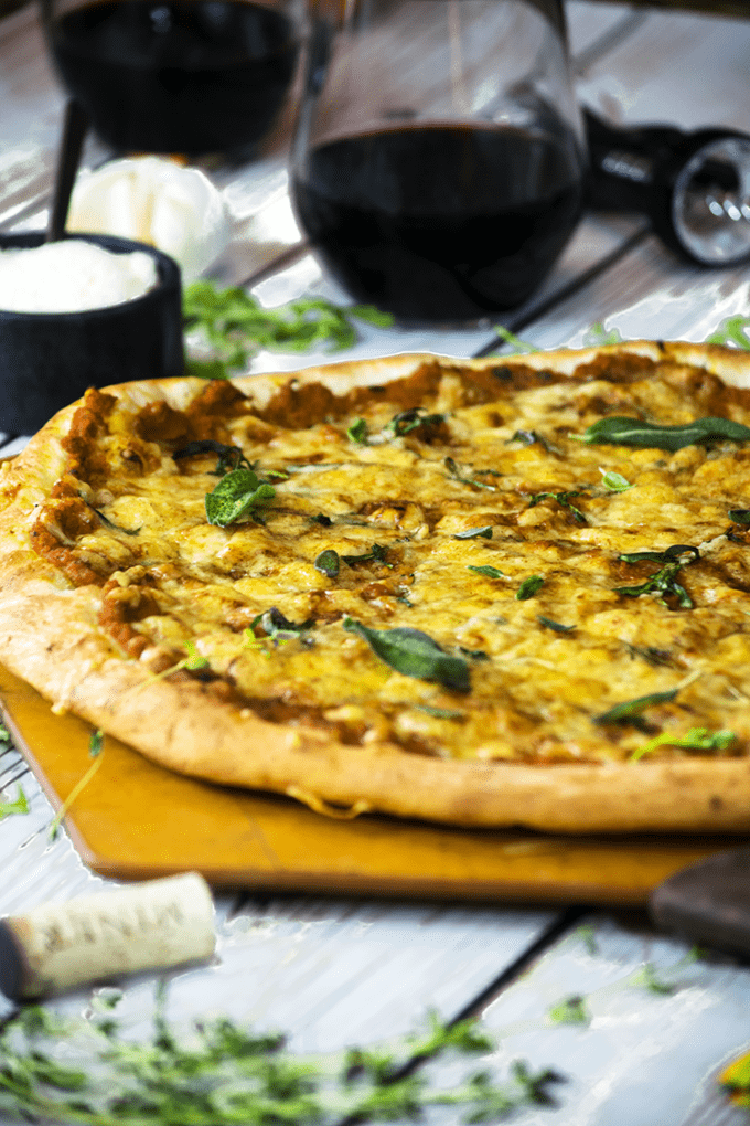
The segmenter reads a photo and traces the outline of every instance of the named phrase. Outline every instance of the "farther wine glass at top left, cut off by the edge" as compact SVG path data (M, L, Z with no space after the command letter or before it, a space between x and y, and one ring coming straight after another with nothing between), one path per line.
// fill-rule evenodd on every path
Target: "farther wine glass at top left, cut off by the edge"
M252 154L296 70L299 0L40 0L69 93L116 152Z

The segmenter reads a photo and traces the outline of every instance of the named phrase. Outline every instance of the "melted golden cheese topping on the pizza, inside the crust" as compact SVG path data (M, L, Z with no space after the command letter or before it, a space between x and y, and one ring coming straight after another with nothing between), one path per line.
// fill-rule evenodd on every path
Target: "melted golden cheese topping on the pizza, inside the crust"
M422 418L442 419L400 436L403 388L342 400L299 429L247 400L214 432L242 447L275 495L264 522L226 528L205 510L217 454L173 457L177 440L136 440L138 418L118 408L101 440L111 471L79 489L99 520L71 537L52 502L46 527L109 580L110 636L121 642L125 629L155 669L199 654L196 676L228 683L237 706L266 718L457 758L622 760L656 734L696 727L729 730L723 753L748 753L750 551L728 512L750 503L750 446L668 453L578 439L607 414L750 425L750 397L722 397L720 381L674 365L508 391L498 376L488 397L446 367L423 400ZM358 419L364 441L351 437ZM607 490L607 472L632 488ZM491 536L463 537L479 528ZM672 575L689 606L674 587L617 590L663 566L618 556L674 545L697 549ZM340 556L335 578L316 566L324 551ZM532 577L542 584L519 597ZM304 628L278 633L271 608ZM345 617L428 634L467 662L470 691L395 671ZM599 718L654 694L662 699L624 722ZM686 753L665 744L651 757Z

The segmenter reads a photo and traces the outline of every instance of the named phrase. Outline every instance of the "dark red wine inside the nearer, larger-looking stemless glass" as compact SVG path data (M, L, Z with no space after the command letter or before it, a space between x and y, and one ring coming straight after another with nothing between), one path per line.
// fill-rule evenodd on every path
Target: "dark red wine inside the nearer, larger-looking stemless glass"
M416 323L522 304L568 241L581 194L564 138L479 124L326 141L293 180L300 222L334 277Z

